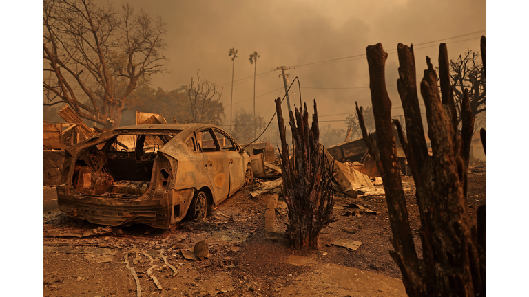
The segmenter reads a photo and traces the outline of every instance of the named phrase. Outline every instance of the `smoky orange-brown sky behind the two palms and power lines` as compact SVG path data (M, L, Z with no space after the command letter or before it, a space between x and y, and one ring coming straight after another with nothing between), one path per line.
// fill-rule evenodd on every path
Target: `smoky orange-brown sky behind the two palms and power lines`
M106 1L98 1L106 3ZM119 8L120 1L112 2ZM228 50L235 47L233 109L253 111L253 70L249 54L257 51L256 115L268 122L273 99L284 96L278 66L289 83L298 76L303 102L318 103L321 124L344 128L355 101L371 105L367 45L382 43L389 56L386 85L393 102L392 115L402 115L397 94L398 43L414 45L417 80L426 69L426 56L437 65L439 43L448 45L450 58L467 49L479 50L486 36L486 1L129 1L136 11L158 14L167 23L165 55L170 73L152 78L152 87L176 89L200 76L223 87L224 128L229 129L231 69ZM352 57L352 58L346 58ZM335 60L337 59L337 60ZM320 61L331 62L317 63ZM317 63L317 64L313 64ZM295 93L295 94L294 94ZM291 107L300 106L297 83ZM283 102L287 111L287 100ZM286 116L286 114L284 114ZM275 124L276 121L274 120Z

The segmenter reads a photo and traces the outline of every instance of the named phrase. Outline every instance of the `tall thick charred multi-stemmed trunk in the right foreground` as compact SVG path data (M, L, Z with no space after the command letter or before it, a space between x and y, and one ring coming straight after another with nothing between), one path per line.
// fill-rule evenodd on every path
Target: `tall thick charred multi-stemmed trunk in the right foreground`
M417 206L422 223L419 230L422 259L418 258L413 243L400 181L395 137L391 132L391 100L384 80L387 54L380 43L366 50L377 150L373 149L372 140L366 133L362 108L357 107L362 135L384 181L393 232L391 242L395 249L390 254L402 272L402 281L409 296L484 296L486 259L481 256L485 245L484 227L476 230L470 225L466 201L468 158L474 127L468 92L464 96L463 126L459 135L448 76L448 52L442 43L439 46L442 96L437 86L437 74L428 57L428 69L424 70L421 83L428 137L433 151L432 156L428 155L417 96L413 47L400 43L397 51L400 63L397 87L404 109L407 137L398 120L393 120L393 124L397 126L417 188ZM481 215L484 216L483 213Z

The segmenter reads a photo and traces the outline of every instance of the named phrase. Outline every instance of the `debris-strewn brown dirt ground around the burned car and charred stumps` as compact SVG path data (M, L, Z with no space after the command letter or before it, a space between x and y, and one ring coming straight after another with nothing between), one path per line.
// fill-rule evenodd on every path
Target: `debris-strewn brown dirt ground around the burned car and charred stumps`
M412 177L402 181L409 189L406 200L420 256L415 186ZM45 196L50 192L46 188ZM141 296L406 296L388 253L391 228L384 195L352 199L335 193L333 214L338 221L322 230L318 250L300 252L290 250L286 239L264 239L264 209L272 195L249 197L251 190L239 190L206 221L182 221L169 230L132 225L103 236L50 236L99 227L50 209L43 223L43 296L139 296L138 287ZM351 203L380 213L342 215L353 212ZM468 204L474 224L482 203L486 173L470 172ZM276 228L284 230L287 219L280 200ZM192 249L203 239L209 243L209 259L185 259L180 250ZM335 239L362 245L352 252L331 245Z

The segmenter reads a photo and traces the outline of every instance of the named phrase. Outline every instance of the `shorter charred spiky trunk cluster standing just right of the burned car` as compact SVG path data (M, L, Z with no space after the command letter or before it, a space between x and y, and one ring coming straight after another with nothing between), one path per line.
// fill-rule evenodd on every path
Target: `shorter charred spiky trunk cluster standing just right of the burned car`
M276 99L276 109L282 146L280 156L284 201L289 208L289 243L291 248L298 250L317 248L320 231L332 222L334 195L331 177L334 168L333 162L326 159L323 146L320 146L316 102L311 128L307 104L304 104L303 110L295 109L295 118L292 111L289 113L293 159L289 157L281 98Z

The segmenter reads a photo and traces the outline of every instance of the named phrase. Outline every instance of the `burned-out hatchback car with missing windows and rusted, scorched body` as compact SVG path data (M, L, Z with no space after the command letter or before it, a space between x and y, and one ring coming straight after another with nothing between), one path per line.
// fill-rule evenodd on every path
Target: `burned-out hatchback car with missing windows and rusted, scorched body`
M65 150L59 210L101 225L205 219L249 183L250 157L211 124L123 126Z

